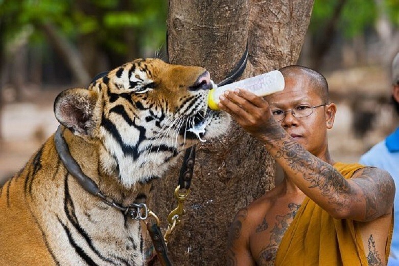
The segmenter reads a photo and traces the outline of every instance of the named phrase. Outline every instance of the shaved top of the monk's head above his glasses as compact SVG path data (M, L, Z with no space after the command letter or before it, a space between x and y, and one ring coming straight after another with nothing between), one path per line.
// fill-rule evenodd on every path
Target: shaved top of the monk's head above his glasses
M323 103L328 103L328 83L320 73L300 65L289 65L280 69L284 78L302 79L314 90Z

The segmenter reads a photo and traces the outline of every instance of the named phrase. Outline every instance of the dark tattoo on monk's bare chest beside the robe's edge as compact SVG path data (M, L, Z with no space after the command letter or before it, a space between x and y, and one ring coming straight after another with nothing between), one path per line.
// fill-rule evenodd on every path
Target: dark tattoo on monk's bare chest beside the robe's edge
M274 224L274 227L270 230L269 244L260 252L256 260L256 263L258 265L274 265L278 246L280 245L281 239L283 239L285 232L287 231L292 220L295 218L299 207L300 204L290 203L288 204L288 208L290 209L289 213L287 213L286 215L276 215L276 223ZM264 221L265 220L266 217Z

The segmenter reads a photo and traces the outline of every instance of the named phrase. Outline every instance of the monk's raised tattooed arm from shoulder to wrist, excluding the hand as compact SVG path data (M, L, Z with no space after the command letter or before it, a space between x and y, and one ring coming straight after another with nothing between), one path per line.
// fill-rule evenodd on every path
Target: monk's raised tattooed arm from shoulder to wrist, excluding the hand
M292 181L334 218L369 221L392 211L395 185L384 170L366 167L346 180L337 169L275 124L261 138Z

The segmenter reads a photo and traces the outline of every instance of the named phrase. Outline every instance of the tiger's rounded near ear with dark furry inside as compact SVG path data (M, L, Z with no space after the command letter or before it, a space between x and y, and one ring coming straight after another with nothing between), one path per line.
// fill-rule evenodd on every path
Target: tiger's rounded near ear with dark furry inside
M84 88L71 88L61 92L54 101L57 120L75 135L90 135L95 128L93 110L97 94Z

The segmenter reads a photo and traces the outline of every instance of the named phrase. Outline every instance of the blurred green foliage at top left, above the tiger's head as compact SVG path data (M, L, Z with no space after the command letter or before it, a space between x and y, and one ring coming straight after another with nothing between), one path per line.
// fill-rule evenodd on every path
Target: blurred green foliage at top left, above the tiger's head
M99 45L123 54L126 30L135 33L138 46L156 50L165 42L167 0L0 0L0 16L12 42L27 26L30 40L43 42L40 24L51 22L69 39L97 38ZM144 48L142 48L144 49Z

